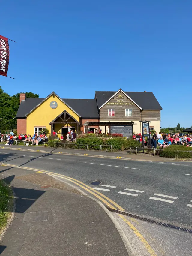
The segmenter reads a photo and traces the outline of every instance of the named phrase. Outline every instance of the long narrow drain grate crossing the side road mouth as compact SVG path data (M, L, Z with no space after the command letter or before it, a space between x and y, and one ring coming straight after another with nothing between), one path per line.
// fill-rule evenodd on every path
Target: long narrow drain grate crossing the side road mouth
M146 222L149 222L149 223L152 223L152 224L160 225L160 226L163 226L163 227L169 227L169 228L173 228L173 229L176 229L176 230L180 230L180 231L184 231L184 232L192 234L192 229L188 229L188 228L185 228L185 227L178 227L178 226L167 224L167 223L164 223L164 222L161 222L161 221L154 221L154 220L151 220L151 219L148 219L148 218L143 218L143 217L140 217L140 216L128 213L128 212L121 212L119 210L115 210L115 209L112 209L110 207L107 207L107 209L110 212L116 212L116 213L131 217L131 218L135 218L135 219L138 219L138 220L141 220L141 221L146 221Z

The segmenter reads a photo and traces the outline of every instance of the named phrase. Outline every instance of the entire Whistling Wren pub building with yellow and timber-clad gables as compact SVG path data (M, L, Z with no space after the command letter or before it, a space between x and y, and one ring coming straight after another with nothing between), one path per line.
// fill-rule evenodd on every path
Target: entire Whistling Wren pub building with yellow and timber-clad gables
M142 133L140 121L160 132L162 107L152 92L95 92L94 99L61 99L55 92L46 98L26 98L20 93L16 114L17 133L40 134L43 128L58 137L72 129L77 133L121 133L131 137Z

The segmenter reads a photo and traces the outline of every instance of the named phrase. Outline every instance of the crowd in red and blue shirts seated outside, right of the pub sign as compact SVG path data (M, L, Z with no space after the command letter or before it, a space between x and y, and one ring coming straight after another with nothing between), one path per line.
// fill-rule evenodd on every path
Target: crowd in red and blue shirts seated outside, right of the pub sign
M183 146L192 146L192 135L190 134L166 134L161 133L159 134L155 132L153 136L151 133L149 134L149 140L146 141L146 137L143 138L141 134L134 134L134 140L138 140L142 143L142 141L147 145L151 146L152 148L157 148L157 145L160 148L166 148L170 145L183 145Z

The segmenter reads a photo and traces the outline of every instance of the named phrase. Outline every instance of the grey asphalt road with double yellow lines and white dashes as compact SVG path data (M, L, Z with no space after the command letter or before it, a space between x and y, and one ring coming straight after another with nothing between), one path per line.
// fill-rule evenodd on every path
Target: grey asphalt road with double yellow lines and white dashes
M12 169L42 171L58 182L75 185L110 208L192 228L192 165L188 161L110 159L0 148L0 163L2 175ZM98 184L91 184L94 181ZM112 214L135 255L192 255L190 233Z

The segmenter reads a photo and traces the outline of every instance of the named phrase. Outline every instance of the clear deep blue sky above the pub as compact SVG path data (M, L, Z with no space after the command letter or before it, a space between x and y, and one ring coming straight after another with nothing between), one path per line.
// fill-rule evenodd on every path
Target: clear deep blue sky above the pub
M7 0L5 92L94 98L95 90L152 91L161 126L192 125L191 8L178 0ZM189 98L187 98L189 97Z

